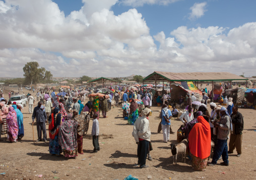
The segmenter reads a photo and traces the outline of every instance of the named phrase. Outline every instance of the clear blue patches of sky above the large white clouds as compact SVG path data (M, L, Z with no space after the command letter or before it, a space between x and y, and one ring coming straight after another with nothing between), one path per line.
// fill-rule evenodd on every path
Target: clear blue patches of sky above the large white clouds
M84 5L81 0L54 0L53 2L65 13L65 16L70 15L72 11L79 11ZM205 15L190 21L188 19L191 12L190 7L195 3L203 2L207 2ZM136 8L142 14L150 28L150 34L153 36L161 31L168 35L180 26L187 26L188 28L219 26L232 29L244 23L254 22L256 19L255 7L256 1L252 0L183 0L167 6L146 4L143 7L132 7L117 3L111 10L117 16L129 9Z

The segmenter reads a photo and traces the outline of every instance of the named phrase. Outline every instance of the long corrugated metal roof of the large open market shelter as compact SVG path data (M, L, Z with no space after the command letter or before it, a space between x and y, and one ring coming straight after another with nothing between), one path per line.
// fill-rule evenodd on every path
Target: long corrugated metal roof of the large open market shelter
M228 72L195 72L195 73L171 73L155 71L144 81L233 81L248 80Z

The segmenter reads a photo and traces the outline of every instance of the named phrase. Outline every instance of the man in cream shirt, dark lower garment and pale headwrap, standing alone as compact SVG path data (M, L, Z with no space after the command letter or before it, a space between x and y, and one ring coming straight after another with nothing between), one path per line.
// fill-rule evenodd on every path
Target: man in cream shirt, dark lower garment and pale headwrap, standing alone
M146 159L149 153L151 131L147 117L149 116L150 112L151 109L149 108L143 109L142 117L139 117L134 123L133 136L138 144L138 165L140 165L141 168L148 167L148 165L146 165Z

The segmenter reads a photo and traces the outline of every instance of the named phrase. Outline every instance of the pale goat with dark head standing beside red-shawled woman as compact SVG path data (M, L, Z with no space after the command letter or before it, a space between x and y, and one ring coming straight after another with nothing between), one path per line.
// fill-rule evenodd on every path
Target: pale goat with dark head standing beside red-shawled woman
M179 144L174 145L173 143L170 144L171 146L171 153L173 157L173 164L175 158L175 164L177 164L177 155L181 154L182 159L184 156L184 162L186 162L186 148L187 148L187 139L183 139Z

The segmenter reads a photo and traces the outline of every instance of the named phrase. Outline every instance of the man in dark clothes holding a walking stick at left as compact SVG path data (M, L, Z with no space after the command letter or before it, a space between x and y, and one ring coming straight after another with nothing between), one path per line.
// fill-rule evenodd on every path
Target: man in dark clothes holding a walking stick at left
M42 131L43 131L44 142L47 142L46 127L45 127L45 122L47 121L47 116L46 116L46 113L40 108L41 105L42 105L42 102L39 101L38 105L34 108L33 115L32 115L32 120L33 120L32 125L34 124L34 120L36 117L36 128L37 128L37 136L38 136L38 139L36 142L39 142L42 140Z

